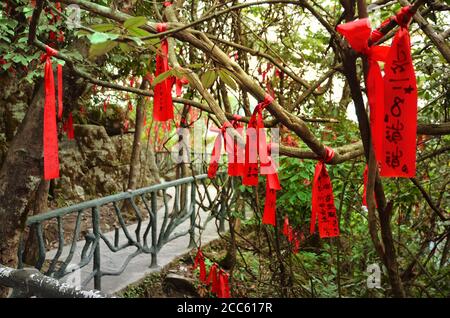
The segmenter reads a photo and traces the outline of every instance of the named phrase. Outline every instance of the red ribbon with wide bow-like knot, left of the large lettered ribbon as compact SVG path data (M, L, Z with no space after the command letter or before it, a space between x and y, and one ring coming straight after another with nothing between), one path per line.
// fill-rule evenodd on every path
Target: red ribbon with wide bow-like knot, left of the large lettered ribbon
M386 60L389 47L369 47L368 41L371 37L372 29L368 18L338 25L337 31L344 36L352 49L366 55L368 59L369 70L366 78L366 88L370 109L370 127L375 157L377 161L380 161L383 153L384 85L377 61Z

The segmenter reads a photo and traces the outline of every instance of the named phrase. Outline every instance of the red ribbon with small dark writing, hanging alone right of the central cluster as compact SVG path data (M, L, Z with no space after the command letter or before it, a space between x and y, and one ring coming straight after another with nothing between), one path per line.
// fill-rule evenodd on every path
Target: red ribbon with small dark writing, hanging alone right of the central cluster
M319 219L319 235L321 238L339 236L333 187L325 166L326 162L333 159L334 150L329 147L325 147L325 149L325 158L317 163L314 171L310 223L310 232L313 234L316 230L316 219Z

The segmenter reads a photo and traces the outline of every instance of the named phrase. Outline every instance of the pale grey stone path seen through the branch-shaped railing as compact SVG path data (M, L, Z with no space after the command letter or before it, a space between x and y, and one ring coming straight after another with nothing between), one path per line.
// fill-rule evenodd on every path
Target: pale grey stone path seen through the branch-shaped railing
M215 196L215 189L212 187L208 188L208 191L211 193L211 196ZM168 201L169 205L169 211L171 211L171 207L174 203L174 194L175 189L170 188L167 190L167 193L171 196L171 199ZM197 196L198 198L198 196ZM160 231L160 227L162 225L162 220L164 217L164 206L158 210L158 221L157 221L157 228L158 228L158 235ZM205 222L207 219L207 216L209 215L209 212L200 211L198 213L201 219L201 224ZM148 225L148 220L145 222L142 222L141 225L141 238L143 233L145 232L145 229ZM176 234L177 232L183 232L189 229L190 226L190 220L187 219L185 222L180 224L173 232L173 234ZM130 225L127 227L129 233L132 235L132 237L135 237L135 229L136 224ZM198 237L198 231L196 231L196 238ZM114 232L104 233L106 238L110 242L114 242ZM219 235L217 233L217 226L215 223L215 219L212 219L206 226L205 230L202 233L202 244L206 244L216 238L218 238ZM149 235L150 238L150 235ZM126 237L123 234L123 231L120 230L120 237L119 237L119 245L123 244ZM81 250L85 244L84 240L81 240L77 242L77 249L75 252L75 255L73 257L72 263L76 264L80 261L80 255ZM169 264L171 261L173 261L176 257L181 256L185 253L187 253L190 249L188 248L189 244L189 235L185 235L182 237L179 237L173 241L170 241L166 245L164 245L161 250L159 251L157 255L158 259L158 267L150 268L150 262L151 262L151 255L150 254L140 254L136 257L134 257L128 266L125 268L125 271L118 275L118 276L103 276L102 277L102 288L101 290L103 292L113 294L115 292L118 292L125 288L126 286L139 281L149 273L153 273L156 271L160 271L161 268L167 264ZM126 260L129 255L134 253L137 249L135 247L128 247L126 249L123 249L118 252L112 252L108 246L101 240L100 243L100 251L101 251L101 268L102 271L117 271L122 267L124 264L124 261ZM49 251L47 253L47 258L52 259L56 253L56 250ZM66 246L60 256L60 260L64 260L65 257L69 253L69 247ZM70 283L75 286L80 286L80 283L89 276L92 272L92 260L91 262L83 267L81 270L76 270L72 274L66 276L62 279L62 281L65 281L67 283ZM85 287L87 289L93 289L93 280Z

